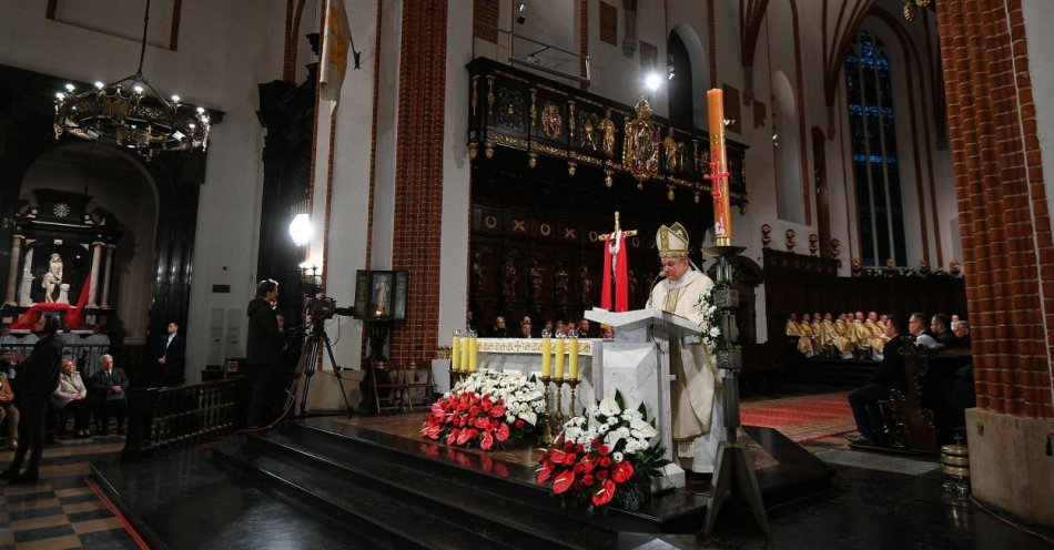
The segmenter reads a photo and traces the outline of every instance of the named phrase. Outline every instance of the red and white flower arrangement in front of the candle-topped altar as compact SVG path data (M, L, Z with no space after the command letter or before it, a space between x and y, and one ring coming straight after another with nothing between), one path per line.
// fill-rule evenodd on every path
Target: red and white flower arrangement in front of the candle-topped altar
M484 388L493 393L480 394ZM535 410L544 407L545 397L533 379L519 373L480 371L432 405L420 435L450 446L490 450L533 434Z

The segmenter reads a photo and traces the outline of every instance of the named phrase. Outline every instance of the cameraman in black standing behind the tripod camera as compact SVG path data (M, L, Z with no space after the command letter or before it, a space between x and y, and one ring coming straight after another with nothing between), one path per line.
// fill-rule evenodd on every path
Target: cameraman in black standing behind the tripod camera
M246 363L253 381L249 403L249 425L265 426L274 411L274 397L282 380L282 347L274 304L278 283L266 278L256 285L256 297L249 303L249 343Z

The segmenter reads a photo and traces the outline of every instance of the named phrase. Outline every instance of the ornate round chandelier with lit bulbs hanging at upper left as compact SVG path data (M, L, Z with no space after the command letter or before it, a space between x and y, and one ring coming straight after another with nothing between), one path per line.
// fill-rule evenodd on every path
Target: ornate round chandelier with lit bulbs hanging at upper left
M203 108L180 103L179 95L164 99L143 75L150 0L143 17L143 42L135 74L110 84L95 82L78 93L73 84L55 94L54 135L78 138L135 151L153 159L166 151L192 151L209 146L210 120Z

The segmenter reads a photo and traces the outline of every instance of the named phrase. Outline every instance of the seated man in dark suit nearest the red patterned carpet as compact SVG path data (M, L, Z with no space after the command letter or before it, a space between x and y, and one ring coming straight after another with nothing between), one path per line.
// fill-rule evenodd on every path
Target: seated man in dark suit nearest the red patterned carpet
M876 445L884 442L885 428L879 401L889 398L890 389L904 389L906 384L904 373L904 356L901 355L903 339L900 337L900 319L890 315L885 326L889 340L885 343L885 353L882 364L871 375L871 381L849 394L849 406L853 409L853 419L857 421L857 431L860 436L850 438L854 445Z

